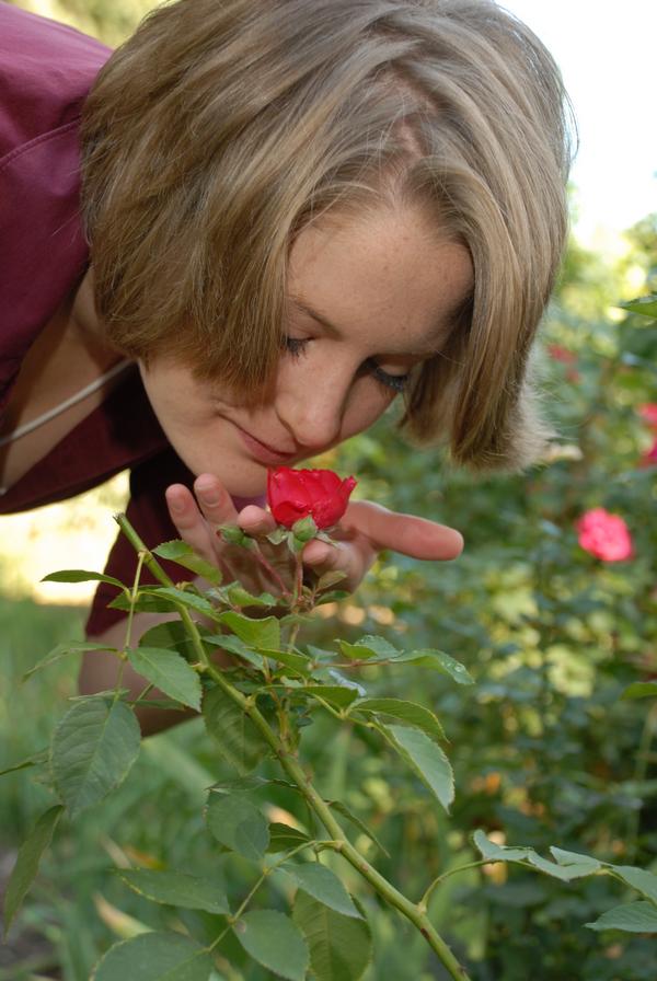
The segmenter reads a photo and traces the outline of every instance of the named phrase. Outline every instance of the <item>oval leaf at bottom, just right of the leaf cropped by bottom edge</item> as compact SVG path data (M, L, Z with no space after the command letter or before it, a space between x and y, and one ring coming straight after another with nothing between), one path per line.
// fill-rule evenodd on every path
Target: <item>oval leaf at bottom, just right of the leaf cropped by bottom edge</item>
M253 910L233 926L235 937L263 967L289 981L304 981L309 950L289 916L276 910Z

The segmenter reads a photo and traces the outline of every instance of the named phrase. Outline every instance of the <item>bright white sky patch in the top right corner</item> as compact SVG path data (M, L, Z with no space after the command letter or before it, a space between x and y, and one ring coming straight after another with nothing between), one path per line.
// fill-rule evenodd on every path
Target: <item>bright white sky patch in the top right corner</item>
M576 234L622 231L657 211L657 2L500 0L554 55L579 131Z

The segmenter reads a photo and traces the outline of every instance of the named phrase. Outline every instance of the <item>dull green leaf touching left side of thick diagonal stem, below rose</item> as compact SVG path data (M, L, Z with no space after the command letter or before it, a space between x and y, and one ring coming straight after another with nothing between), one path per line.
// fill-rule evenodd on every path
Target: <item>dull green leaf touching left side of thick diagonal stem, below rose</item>
M249 716L220 688L204 694L203 717L219 752L240 773L254 770L269 753L268 743Z

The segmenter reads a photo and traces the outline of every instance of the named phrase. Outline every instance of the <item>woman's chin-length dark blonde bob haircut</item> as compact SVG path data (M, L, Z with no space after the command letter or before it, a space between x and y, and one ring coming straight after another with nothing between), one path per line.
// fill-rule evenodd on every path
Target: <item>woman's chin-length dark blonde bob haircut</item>
M257 399L285 337L290 244L331 208L419 205L472 296L402 425L454 462L544 449L528 359L564 246L567 97L492 0L178 0L83 111L83 215L111 344Z

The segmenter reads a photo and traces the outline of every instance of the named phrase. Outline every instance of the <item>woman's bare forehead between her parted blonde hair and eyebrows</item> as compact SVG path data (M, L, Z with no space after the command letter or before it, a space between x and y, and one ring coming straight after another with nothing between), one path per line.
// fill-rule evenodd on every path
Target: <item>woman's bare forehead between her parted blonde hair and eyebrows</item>
M440 349L473 286L469 251L416 208L331 215L303 229L289 262L292 318L374 353Z

